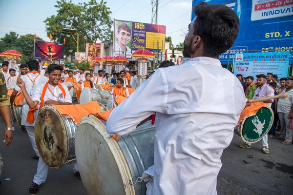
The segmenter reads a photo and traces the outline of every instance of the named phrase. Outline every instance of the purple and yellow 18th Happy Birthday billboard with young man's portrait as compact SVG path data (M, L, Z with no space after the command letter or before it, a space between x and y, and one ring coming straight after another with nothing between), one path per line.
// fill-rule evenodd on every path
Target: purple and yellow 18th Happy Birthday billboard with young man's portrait
M165 50L166 26L114 20L114 57L131 58L138 49Z

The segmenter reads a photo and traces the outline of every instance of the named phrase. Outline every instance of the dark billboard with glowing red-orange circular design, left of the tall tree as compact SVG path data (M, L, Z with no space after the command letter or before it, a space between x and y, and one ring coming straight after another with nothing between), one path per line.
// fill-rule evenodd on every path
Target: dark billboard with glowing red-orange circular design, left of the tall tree
M35 40L35 59L64 59L65 43L53 43L41 40Z

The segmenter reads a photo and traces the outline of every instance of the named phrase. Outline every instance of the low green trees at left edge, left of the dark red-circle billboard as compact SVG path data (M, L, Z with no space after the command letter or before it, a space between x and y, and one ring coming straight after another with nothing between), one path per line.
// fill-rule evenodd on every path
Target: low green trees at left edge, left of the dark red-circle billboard
M37 37L37 40L43 40ZM5 52L9 49L17 50L21 53L21 63L27 62L34 58L34 35L27 34L19 36L15 32L5 34L0 39L0 52Z

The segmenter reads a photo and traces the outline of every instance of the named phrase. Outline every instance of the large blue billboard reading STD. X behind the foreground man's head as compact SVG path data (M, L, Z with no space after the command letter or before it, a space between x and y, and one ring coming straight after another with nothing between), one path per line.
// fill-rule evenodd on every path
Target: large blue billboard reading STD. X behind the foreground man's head
M293 50L293 0L193 0L192 7L201 1L227 5L237 14L240 29L231 58L247 50ZM228 52L219 59L227 63Z

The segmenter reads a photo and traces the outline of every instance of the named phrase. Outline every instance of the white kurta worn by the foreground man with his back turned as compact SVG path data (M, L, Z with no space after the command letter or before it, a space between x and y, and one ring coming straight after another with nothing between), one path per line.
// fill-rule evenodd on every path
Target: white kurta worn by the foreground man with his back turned
M238 78L218 59L199 57L158 69L112 111L106 129L126 135L157 112L153 194L215 195L220 157L244 107Z

